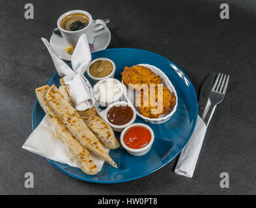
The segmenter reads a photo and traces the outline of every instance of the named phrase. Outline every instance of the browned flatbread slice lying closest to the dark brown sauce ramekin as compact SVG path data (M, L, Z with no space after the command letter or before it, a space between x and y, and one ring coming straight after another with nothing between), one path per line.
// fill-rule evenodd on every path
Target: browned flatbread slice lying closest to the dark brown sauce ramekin
M115 134L107 122L97 116L88 116L87 119L83 121L104 146L109 149L119 148L119 142L117 142L117 138L115 138Z

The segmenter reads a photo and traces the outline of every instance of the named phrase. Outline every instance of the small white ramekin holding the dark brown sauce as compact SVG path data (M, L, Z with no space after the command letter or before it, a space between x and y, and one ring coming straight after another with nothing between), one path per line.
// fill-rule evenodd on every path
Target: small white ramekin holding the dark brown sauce
M107 119L107 112L111 109L111 107L115 106L115 105L128 105L131 109L132 112L134 112L134 115L132 116L132 120L130 120L130 122L124 124L124 125L114 125L113 123L110 123L109 120ZM106 120L106 122L112 127L112 129L114 131L117 132L122 132L122 130L127 127L128 125L131 125L132 123L134 123L135 119L136 119L136 110L134 109L134 106L125 102L125 101L119 101L119 102L115 102L112 103L111 105L109 105L107 107L107 109L105 110L105 114L104 114L104 119Z

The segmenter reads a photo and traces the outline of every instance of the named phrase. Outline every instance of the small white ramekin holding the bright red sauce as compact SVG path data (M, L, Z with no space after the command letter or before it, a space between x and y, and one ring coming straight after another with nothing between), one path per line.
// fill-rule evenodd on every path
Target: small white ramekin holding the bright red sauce
M128 148L128 146L126 146L124 144L124 134L126 133L126 131L128 129L130 129L131 127L134 127L134 126L142 126L142 127L145 127L147 129L149 129L150 131L150 134L151 134L151 139L150 139L150 142L149 144L147 144L147 146L145 146L144 148L140 148L140 149L132 149L132 148ZM128 151L128 153L130 153L131 155L134 155L134 156L141 156L141 155L145 155L146 153L148 153L148 151L150 150L153 142L154 142L154 131L149 127L149 125L146 125L144 123L134 123L132 125L128 125L128 127L126 127L124 129L124 131L122 131L121 133L121 136L120 136L120 141L121 141L121 145L124 149L126 149L126 151Z

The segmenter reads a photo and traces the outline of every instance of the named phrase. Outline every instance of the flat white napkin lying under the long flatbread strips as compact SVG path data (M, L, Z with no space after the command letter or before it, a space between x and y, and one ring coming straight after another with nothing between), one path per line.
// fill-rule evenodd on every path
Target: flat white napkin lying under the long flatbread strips
M70 157L68 148L64 146L63 142L55 137L53 127L48 116L44 116L42 122L36 127L31 135L29 135L29 138L27 138L22 148L41 155L42 157L47 157L53 161L78 167L76 161ZM105 150L109 152L109 149L105 148ZM98 168L98 172L100 172L105 162L104 159L101 159L91 151L90 153Z

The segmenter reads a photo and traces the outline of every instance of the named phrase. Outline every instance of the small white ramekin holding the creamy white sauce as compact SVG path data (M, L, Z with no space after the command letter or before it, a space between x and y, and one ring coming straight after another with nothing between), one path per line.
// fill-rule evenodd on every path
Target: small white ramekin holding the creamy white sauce
M103 83L103 82L106 81L107 79L113 79L113 80L117 81L118 85L120 85L121 92L119 92L119 94L117 94L117 95L115 96L115 98L113 98L113 99L100 99L100 98L98 99L98 98L96 98L95 95L96 95L96 89L97 89L98 84ZM95 97L95 99L98 101L98 103L100 103L100 105L103 106L103 107L109 106L109 105L111 105L112 103L115 103L115 102L117 102L117 101L121 101L121 99L122 99L122 94L124 93L123 90L124 90L124 89L123 89L123 87L122 87L122 83L121 83L118 79L114 79L114 78L104 78L104 79L98 81L98 83L96 83L96 84L93 86L94 97Z

